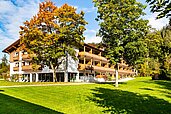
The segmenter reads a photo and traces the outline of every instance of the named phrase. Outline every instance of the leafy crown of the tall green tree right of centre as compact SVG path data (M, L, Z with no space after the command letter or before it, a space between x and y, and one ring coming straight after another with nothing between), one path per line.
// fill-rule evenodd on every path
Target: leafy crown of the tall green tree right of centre
M148 21L140 18L145 15L146 6L136 0L94 0L94 3L98 8L99 35L107 46L107 57L112 63L123 58L135 66L146 50L142 37L148 31Z

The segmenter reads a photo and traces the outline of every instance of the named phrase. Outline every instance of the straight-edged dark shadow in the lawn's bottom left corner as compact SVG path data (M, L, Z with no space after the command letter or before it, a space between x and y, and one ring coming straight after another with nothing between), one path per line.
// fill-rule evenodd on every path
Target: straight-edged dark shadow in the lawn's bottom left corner
M64 114L0 93L0 114Z

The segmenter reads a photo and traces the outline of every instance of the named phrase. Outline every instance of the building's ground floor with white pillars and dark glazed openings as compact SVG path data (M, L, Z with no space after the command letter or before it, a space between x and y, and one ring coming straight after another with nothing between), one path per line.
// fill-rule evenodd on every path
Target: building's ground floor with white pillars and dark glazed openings
M119 79L133 77L135 73L119 72ZM113 81L115 73L98 71L58 72L55 82L95 82ZM25 73L19 75L19 82L53 82L53 73Z

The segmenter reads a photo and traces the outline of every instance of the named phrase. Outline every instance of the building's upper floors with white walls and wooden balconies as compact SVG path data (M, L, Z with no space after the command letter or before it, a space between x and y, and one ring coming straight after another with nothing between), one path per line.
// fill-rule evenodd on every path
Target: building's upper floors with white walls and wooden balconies
M66 61L64 61L59 66L57 72L76 73L77 80L79 80L79 73L83 73L84 76L87 76L89 74L93 74L94 76L96 76L95 73L97 72L98 75L107 75L107 73L110 73L112 75L115 74L114 65L110 64L109 61L103 56L103 50L99 50L86 45L83 46L82 49L75 49L75 51L78 59L74 60L70 55L68 55L67 69ZM31 60L29 56L29 54L23 51L17 51L17 49L10 53L10 76L12 76L12 74L30 74L30 76L32 76L32 73L53 72L52 69L49 69L48 66L44 67L43 70L39 70L37 72L32 71L31 63L26 64L26 61L30 62ZM18 66L16 66L17 63ZM25 64L25 66L23 66L23 64ZM123 61L122 63L120 63L119 68L120 75L135 74L135 72L131 71L131 68L128 67L128 65L126 65ZM66 75L65 80L67 80L67 77L68 76Z

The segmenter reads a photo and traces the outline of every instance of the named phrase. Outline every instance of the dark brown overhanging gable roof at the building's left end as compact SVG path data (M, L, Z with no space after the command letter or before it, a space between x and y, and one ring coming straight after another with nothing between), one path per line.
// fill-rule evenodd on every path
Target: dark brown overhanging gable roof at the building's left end
M5 53L11 53L12 51L14 51L15 49L17 49L20 45L20 39L18 39L17 41L15 41L14 43L12 43L11 45L9 45L7 48L5 48L2 52Z

